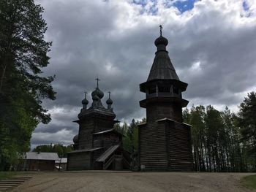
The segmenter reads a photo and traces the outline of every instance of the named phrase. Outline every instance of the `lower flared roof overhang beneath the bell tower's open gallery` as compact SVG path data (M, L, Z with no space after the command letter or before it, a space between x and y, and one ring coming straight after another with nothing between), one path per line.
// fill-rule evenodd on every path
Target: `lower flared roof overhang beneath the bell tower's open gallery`
M177 102L181 103L181 107L187 107L187 104L189 104L189 101L187 101L186 99L181 99L175 96L155 96L140 101L140 107L146 108L147 104L151 102Z

